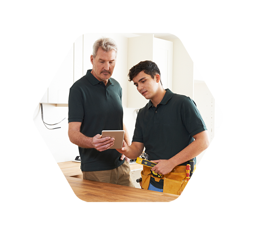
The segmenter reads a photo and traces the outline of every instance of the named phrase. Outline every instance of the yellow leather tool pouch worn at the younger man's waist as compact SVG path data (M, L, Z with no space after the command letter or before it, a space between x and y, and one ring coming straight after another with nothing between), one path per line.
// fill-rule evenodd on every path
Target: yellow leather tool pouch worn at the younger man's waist
M143 166L143 171L141 171L142 188L149 188L151 177L156 182L161 179L151 174L150 167ZM171 173L163 176L162 179L164 180L164 193L179 195L185 188L190 187L190 182L186 179L186 166L174 167Z

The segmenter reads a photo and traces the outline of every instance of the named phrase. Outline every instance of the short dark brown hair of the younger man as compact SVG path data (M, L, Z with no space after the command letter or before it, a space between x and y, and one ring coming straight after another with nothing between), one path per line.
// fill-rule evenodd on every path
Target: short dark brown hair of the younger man
M156 74L159 74L161 76L160 70L156 63L146 60L146 61L141 61L138 63L138 65L133 66L129 70L129 81L131 82L132 79L137 76L140 72L144 71L144 73L150 75L153 79L156 76ZM161 82L162 84L162 82Z

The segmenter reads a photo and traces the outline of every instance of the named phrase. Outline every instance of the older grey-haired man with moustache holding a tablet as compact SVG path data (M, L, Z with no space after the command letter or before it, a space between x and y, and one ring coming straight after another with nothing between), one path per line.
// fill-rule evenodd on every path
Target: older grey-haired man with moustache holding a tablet
M117 53L117 45L111 38L94 43L92 70L70 89L68 136L79 147L84 179L134 187L129 159L109 149L114 139L100 135L103 130L126 130L122 88L111 78ZM127 131L125 140L129 143Z

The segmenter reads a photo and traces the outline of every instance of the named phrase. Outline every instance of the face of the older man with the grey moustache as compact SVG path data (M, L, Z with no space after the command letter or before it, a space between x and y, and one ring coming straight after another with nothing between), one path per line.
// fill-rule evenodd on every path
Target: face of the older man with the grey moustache
M96 57L93 58L93 56L91 56L91 64L93 65L93 69L91 71L92 75L99 81L104 82L106 85L115 68L115 50L106 52L99 48Z

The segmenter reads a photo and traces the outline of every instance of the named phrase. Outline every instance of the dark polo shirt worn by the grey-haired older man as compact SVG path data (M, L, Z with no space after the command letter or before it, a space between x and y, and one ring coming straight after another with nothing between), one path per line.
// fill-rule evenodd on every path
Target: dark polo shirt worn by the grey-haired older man
M81 122L81 133L94 137L103 130L123 129L122 88L113 78L107 85L97 80L91 70L70 88L68 123ZM121 153L98 152L79 147L82 171L112 170L121 166Z

